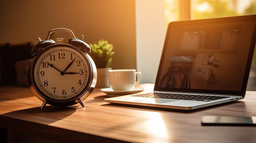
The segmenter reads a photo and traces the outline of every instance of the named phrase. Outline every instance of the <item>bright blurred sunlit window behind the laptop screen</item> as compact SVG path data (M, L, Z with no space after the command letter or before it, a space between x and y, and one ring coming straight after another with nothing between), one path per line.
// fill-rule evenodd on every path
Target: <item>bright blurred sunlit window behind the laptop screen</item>
M256 14L256 0L165 0L166 24L171 21ZM256 52L247 90L256 90Z

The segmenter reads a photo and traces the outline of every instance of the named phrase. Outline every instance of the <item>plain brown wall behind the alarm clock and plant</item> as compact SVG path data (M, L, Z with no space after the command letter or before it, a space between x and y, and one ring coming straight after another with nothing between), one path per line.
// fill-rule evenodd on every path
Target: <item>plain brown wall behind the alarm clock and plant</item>
M0 20L1 44L33 45L67 28L87 43L113 44L113 69L136 68L135 0L1 0Z

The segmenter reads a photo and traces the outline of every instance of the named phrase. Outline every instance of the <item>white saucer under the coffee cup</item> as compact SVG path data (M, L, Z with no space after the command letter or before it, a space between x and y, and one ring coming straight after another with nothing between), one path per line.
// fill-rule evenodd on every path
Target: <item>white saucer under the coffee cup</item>
M135 87L132 91L114 91L112 88L103 88L102 92L108 95L131 95L143 91L144 88Z

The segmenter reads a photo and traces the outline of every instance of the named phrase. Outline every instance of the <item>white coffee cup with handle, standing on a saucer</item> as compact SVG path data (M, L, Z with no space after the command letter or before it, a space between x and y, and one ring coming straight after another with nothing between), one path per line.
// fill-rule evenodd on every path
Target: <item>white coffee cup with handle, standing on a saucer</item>
M108 70L108 81L114 91L132 91L140 83L141 73L133 69Z

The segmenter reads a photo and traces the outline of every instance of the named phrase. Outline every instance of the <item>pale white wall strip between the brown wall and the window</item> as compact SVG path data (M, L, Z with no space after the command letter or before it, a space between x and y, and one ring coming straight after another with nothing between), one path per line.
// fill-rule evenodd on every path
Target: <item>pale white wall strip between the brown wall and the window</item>
M164 0L136 0L137 70L141 83L155 83L166 35Z

